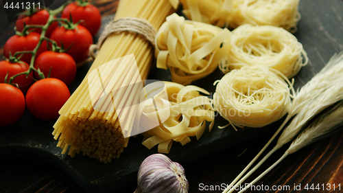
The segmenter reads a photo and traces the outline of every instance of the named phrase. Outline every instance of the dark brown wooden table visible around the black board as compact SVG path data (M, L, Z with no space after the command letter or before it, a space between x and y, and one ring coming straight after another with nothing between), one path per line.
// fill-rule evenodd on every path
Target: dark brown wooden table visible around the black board
M102 15L106 16L115 12L118 2L95 0L93 3ZM5 41L14 34L13 27L14 23L8 23L4 14L0 12L1 57ZM271 135L272 133L248 143L238 144L185 165L186 176L190 183L189 192L222 192L220 190L206 191L202 188L205 188L205 185L211 188L211 186L230 183L257 155ZM282 148L276 152L257 172L261 173L268 168L283 155L284 150L285 148ZM0 192L83 192L82 188L78 187L66 174L49 163L45 163L44 160L3 159L0 156L0 161ZM255 177L257 174L253 174L248 181ZM322 184L324 184L327 188L327 183L332 185L331 190L305 190L306 185L309 185L309 188L311 185L314 185L314 188L319 185L322 189ZM333 184L335 184L335 191L333 191ZM287 185L289 190L255 192L343 192L343 131L311 144L294 155L289 155L257 185L268 185L270 188L272 185L279 186L277 188ZM301 191L294 190L294 186L299 185ZM136 184L132 184L126 192L134 192L135 188Z

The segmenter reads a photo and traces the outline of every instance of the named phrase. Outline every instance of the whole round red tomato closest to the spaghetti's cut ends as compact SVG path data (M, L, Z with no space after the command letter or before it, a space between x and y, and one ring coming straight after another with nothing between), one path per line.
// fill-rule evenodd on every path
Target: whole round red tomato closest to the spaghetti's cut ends
M57 78L45 78L34 82L26 93L29 112L40 120L58 118L58 111L70 97L66 84Z

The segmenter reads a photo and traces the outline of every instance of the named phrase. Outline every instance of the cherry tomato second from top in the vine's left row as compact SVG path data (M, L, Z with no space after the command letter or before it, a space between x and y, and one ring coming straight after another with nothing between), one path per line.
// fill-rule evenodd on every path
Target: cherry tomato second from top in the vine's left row
M3 47L3 56L6 58L10 57L10 52L12 56L16 52L21 51L32 51L37 46L39 42L40 34L36 32L31 32L26 36L18 36L14 35L6 41L5 46ZM40 53L47 50L47 43L46 41L43 41L43 43L40 45L38 52L36 54L36 57L39 56ZM23 60L25 63L29 64L31 62L32 54L23 54L23 57L21 57L21 60Z

